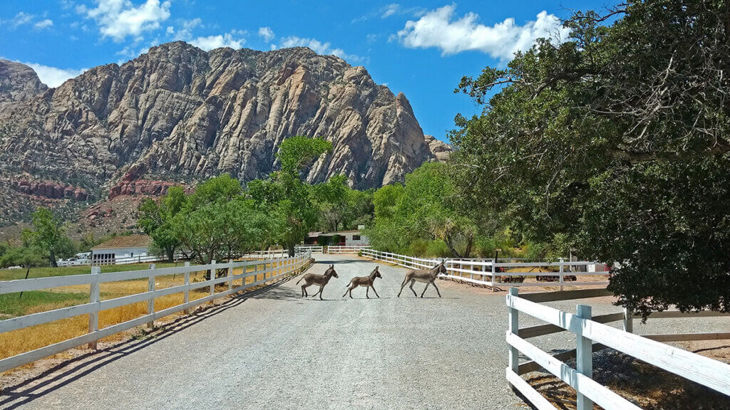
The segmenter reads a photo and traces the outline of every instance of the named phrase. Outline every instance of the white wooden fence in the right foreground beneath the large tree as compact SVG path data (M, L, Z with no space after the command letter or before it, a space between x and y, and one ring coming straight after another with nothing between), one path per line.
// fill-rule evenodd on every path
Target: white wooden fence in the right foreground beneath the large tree
M520 377L539 368L545 368L553 376L561 379L577 392L577 410L592 410L593 403L603 409L640 409L630 401L616 394L608 387L593 381L592 354L599 349L610 347L626 355L636 357L665 371L702 384L712 390L730 395L730 365L712 360L709 357L687 352L683 349L663 344L660 341L730 339L730 333L687 333L683 335L646 335L631 333L634 316L627 312L603 314L593 317L591 306L578 305L577 312L563 312L539 302L564 301L576 298L590 298L607 295L605 290L573 290L554 293L530 293L519 295L518 288L510 288L507 295L509 311L507 346L509 365L507 381L519 390L537 409L556 409L548 399ZM529 314L547 325L530 328L519 327L520 312ZM698 317L726 316L715 312L703 314L683 314L681 312L656 312L652 318L661 317ZM604 325L607 322L623 321L623 330ZM550 355L526 339L567 330L575 333L576 349L558 355ZM595 344L594 344L595 342ZM519 363L519 354L531 361ZM564 360L575 357L575 368Z

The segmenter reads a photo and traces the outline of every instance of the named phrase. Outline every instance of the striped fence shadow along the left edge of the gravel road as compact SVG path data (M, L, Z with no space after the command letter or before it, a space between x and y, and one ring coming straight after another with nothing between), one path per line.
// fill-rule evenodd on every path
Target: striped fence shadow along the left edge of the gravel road
M16 384L2 388L0 390L0 409L17 409L37 398L41 398L50 392L66 386L66 384L91 374L91 372L104 367L104 365L114 363L122 357L131 355L158 341L167 339L169 336L190 328L198 322L239 306L249 298L255 298L262 293L278 290L280 285L288 282L292 278L293 276L286 276L280 281L253 290L252 292L234 295L220 305L212 306L201 312L196 312L169 322L147 335L147 337L127 339L110 347L89 351L72 359L64 360L51 368L47 368L37 376L20 380Z

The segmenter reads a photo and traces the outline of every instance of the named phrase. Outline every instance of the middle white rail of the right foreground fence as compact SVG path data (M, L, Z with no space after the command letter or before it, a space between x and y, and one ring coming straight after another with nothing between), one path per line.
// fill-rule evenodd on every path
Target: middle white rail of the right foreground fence
M574 368L566 365L561 360L543 352L534 344L529 343L514 333L507 332L507 344L515 347L527 357L539 363L542 368L549 371L553 376L566 382L570 387L580 391L585 397L590 398L594 403L607 410L641 410L630 401L612 392L607 387L593 381L588 376L578 373Z

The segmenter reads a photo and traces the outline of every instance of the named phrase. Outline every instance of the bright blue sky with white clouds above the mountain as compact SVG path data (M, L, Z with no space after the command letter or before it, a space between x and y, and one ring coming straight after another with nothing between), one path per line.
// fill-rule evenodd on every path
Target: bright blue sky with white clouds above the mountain
M472 101L453 93L463 75L504 66L570 9L595 0L212 1L3 0L0 58L29 63L57 86L83 69L123 63L150 46L183 39L215 47L304 45L365 66L375 82L408 97L426 134L445 140ZM608 3L610 4L610 3Z

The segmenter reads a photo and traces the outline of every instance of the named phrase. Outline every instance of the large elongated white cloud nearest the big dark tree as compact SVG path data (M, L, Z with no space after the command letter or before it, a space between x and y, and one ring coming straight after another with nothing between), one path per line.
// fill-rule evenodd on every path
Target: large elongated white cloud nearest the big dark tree
M477 23L479 16L475 13L453 20L455 8L456 5L451 4L431 10L416 21L407 21L396 38L410 48L437 47L442 55L476 50L509 61L518 50L529 50L540 37L558 34L558 40L563 41L569 34L558 18L545 11L523 26L516 25L514 18L484 26Z

